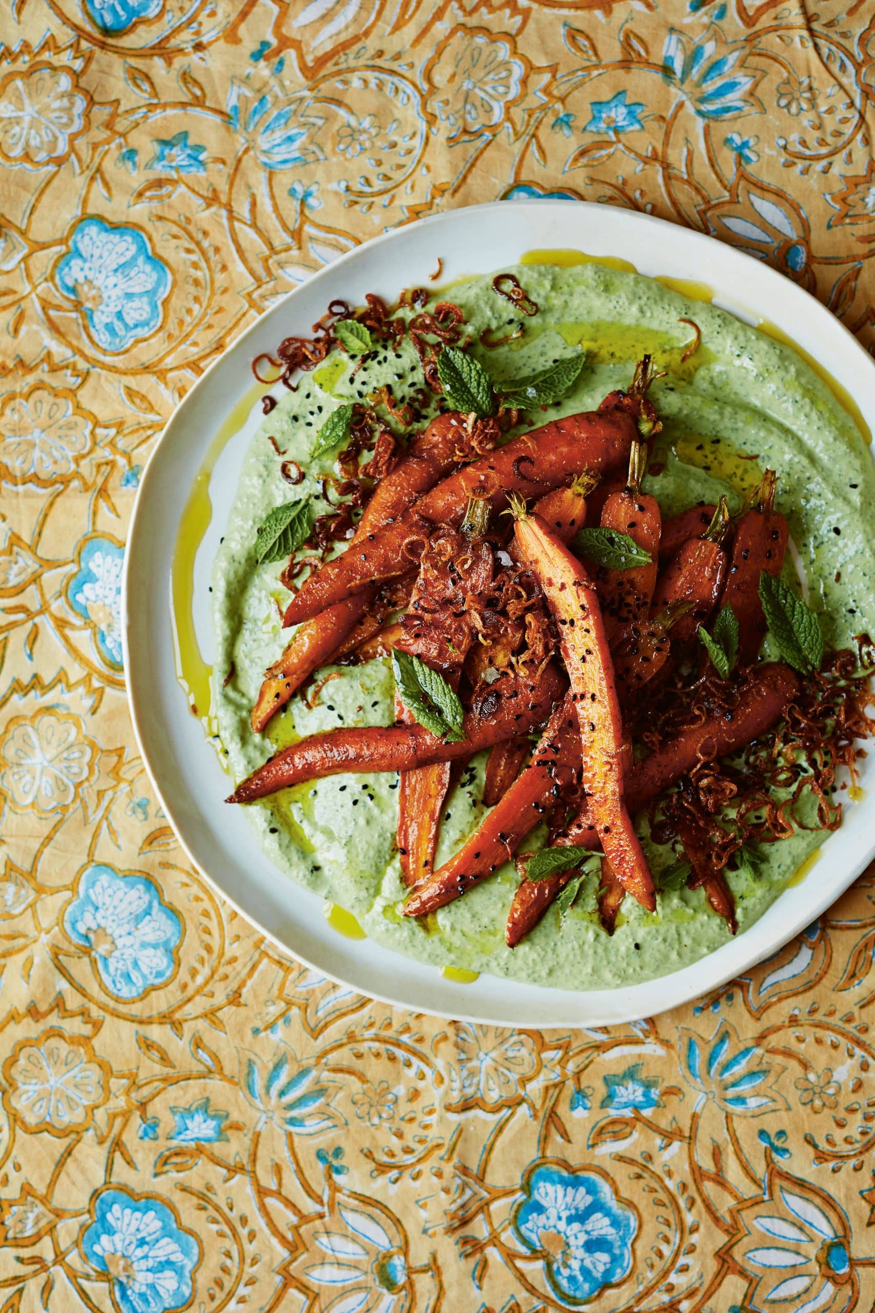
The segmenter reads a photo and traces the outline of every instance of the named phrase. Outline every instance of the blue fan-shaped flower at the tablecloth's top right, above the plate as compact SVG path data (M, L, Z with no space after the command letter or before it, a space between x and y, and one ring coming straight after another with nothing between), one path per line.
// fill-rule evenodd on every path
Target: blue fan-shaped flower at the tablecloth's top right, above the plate
M728 43L713 24L687 50L687 38L674 28L662 47L662 76L677 85L700 118L720 119L762 109L753 95L759 74L733 72L746 53L744 41Z

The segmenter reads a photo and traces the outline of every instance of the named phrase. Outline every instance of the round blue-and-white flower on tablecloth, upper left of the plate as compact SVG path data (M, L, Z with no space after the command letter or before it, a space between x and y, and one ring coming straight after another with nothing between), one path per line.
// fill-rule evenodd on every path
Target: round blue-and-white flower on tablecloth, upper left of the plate
M55 268L55 282L81 307L97 345L118 352L158 328L171 274L138 228L83 219Z

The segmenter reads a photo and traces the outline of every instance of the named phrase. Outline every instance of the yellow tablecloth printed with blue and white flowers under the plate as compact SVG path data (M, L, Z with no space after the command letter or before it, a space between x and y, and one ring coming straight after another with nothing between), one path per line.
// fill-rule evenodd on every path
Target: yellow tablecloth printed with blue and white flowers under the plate
M864 0L9 0L0 49L0 1310L875 1301L874 877L612 1031L376 1004L191 871L120 571L164 419L386 227L660 214L875 343Z

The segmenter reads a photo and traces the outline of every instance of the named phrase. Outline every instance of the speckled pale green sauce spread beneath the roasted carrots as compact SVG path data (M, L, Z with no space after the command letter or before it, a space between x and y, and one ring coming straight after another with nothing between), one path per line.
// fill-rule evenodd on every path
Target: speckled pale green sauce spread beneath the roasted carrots
M591 408L611 389L628 383L642 343L660 345L661 362L670 372L652 395L665 423L660 439L665 470L648 478L646 488L660 499L663 513L700 499L716 502L721 492L737 507L734 488L740 478L750 479L757 470L737 456L759 457L759 470L767 465L778 470L778 504L790 520L809 600L822 612L829 642L845 646L854 634L875 628L872 461L851 418L795 352L725 311L688 301L637 274L593 264L572 269L527 265L512 272L540 312L524 322L522 339L481 352L494 376L529 373L575 351L581 340L599 344L590 348L574 391L539 415L536 423ZM447 295L464 309L474 341L482 328L501 330L510 327L508 320L518 322L512 307L493 291L491 277L456 285ZM700 352L686 365L681 364L681 349L690 340L690 328L678 323L682 316L699 324L703 339ZM658 336L648 336L653 334ZM256 567L256 527L273 506L300 495L318 496L317 475L330 463L327 458L311 462L309 452L334 407L384 382L392 382L398 397L407 386L420 383L407 344L398 353L376 355L355 381L349 374L346 360L330 358L305 376L297 391L284 397L265 418L246 458L215 562L214 702L221 739L238 780L272 755L276 744L284 746L294 737L340 723L388 725L393 720L392 675L385 660L376 660L338 670L313 710L296 697L275 718L269 738L252 734L248 723L261 674L288 639L277 609L277 600L286 596L277 582L281 566ZM285 449L285 460L297 460L307 470L298 488L282 481L269 436ZM694 463L678 460L675 449ZM715 477L717 473L720 477ZM787 569L792 578L790 562ZM837 575L841 582L836 582ZM235 675L223 687L231 663ZM483 815L482 771L481 755L447 800L439 863L456 851ZM627 898L612 939L586 910L591 899L581 898L581 909L573 909L564 927L550 910L511 951L503 939L518 882L510 864L430 918L427 926L402 918L403 890L394 852L395 797L395 776L344 775L277 794L250 806L247 813L258 842L279 872L346 907L377 943L439 966L562 989L602 989L675 970L728 937L724 922L704 906L702 892L681 890L661 895L656 915L644 914ZM533 834L526 846L533 847L539 838ZM755 884L729 874L740 931L765 911L821 840L817 834L800 831L771 846ZM650 852L657 868L669 860L665 853ZM807 878L816 880L819 869L815 867ZM277 878L284 876L277 873Z

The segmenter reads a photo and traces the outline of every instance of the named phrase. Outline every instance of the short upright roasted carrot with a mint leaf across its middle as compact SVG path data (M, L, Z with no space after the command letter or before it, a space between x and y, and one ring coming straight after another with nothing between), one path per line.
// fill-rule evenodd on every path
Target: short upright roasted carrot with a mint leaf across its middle
M595 586L608 643L614 645L624 629L648 613L657 579L657 557L662 529L662 512L654 496L641 491L648 449L633 442L625 487L612 492L602 507L602 528L625 533L644 551L650 565L633 570L599 569Z

